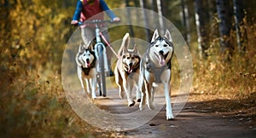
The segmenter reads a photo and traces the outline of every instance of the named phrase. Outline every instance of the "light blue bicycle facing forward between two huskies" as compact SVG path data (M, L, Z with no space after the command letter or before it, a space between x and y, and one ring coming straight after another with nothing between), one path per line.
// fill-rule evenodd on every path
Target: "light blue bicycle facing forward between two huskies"
M109 48L113 51L116 55L110 44L108 43L107 39L102 35L100 32L100 24L102 23L117 23L113 20L86 20L84 22L79 22L78 26L86 25L86 24L94 24L95 25L95 32L96 32L96 43L94 44L94 50L96 53L96 59L98 60L96 64L96 78L99 88L99 93L101 96L107 96L107 89L106 89L106 72L109 72L108 69L108 60L107 60L107 53L105 44L102 43L102 40L107 43Z

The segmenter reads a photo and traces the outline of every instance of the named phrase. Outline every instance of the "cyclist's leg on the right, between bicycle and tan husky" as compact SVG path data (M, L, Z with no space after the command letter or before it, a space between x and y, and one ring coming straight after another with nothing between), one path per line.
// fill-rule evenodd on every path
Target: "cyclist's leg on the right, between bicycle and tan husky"
M107 27L102 27L102 35L106 38L106 40L108 41L108 43L110 43L109 41L109 34L108 34L108 28ZM113 71L111 68L111 59L113 57L113 53L111 51L111 49L107 46L107 43L105 43L106 45L106 52L107 52L107 58L108 58L108 68L109 68L109 76L113 76Z

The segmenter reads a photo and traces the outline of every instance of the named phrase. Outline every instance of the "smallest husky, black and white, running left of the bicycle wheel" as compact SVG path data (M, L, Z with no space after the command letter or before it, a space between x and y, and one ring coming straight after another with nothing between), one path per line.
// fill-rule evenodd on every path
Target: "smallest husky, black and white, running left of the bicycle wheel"
M87 93L91 94L92 99L96 98L96 55L91 47L85 47L83 43L79 45L79 52L76 55L78 76L83 91L84 81L87 86Z

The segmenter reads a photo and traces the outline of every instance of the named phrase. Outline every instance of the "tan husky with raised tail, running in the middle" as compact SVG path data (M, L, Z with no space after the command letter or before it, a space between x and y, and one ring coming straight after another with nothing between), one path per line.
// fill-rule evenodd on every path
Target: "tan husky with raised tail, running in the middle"
M137 101L140 102L141 98L141 93L137 88L141 58L138 54L137 46L134 45L133 49L128 49L129 44L130 36L129 33L126 33L118 52L119 59L114 68L114 75L115 82L119 86L120 98L124 98L125 92L128 100L128 106L134 106L135 101L133 101L131 97L133 87L137 89Z

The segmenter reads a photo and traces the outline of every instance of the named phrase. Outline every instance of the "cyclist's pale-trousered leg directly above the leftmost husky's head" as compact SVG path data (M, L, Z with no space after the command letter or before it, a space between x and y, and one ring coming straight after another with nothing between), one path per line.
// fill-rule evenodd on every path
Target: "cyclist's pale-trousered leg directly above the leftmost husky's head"
M95 37L95 29L90 27L81 28L81 36L84 44L88 47Z

